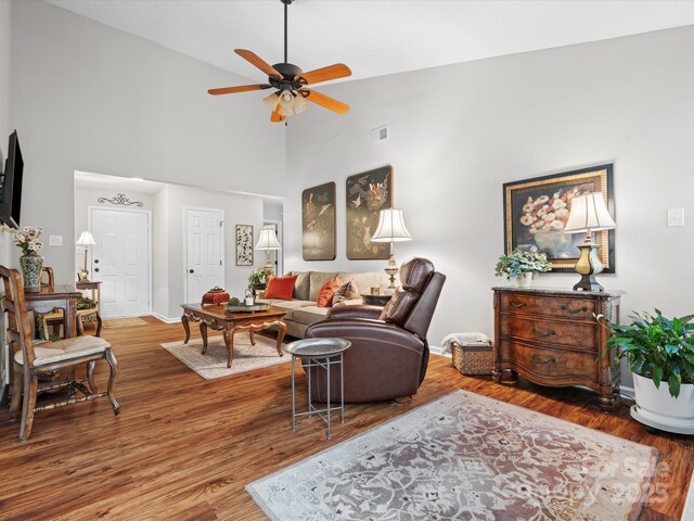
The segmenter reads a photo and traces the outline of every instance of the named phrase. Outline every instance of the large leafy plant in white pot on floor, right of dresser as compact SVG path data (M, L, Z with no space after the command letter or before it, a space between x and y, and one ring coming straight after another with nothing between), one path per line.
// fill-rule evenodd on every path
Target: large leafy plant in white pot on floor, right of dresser
M635 314L628 326L609 323L615 361L633 374L631 416L651 428L694 434L694 315ZM663 385L664 384L664 385Z

